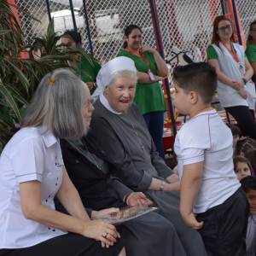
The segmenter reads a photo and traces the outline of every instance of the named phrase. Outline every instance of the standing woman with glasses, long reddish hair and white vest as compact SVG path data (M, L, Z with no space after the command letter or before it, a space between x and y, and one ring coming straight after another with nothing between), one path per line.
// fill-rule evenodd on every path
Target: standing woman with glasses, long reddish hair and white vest
M253 68L243 46L234 43L230 19L225 15L218 16L213 24L212 44L207 49L207 60L218 75L218 98L221 106L236 119L241 136L255 140Z

